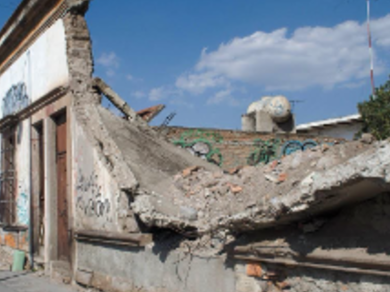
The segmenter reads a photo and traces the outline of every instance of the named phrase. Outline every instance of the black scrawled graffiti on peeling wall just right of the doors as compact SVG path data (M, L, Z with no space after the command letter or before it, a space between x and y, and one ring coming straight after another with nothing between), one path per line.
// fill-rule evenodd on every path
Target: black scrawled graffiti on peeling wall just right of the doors
M85 176L79 169L76 191L78 194L76 206L85 216L101 218L110 214L110 200L103 198L95 171Z

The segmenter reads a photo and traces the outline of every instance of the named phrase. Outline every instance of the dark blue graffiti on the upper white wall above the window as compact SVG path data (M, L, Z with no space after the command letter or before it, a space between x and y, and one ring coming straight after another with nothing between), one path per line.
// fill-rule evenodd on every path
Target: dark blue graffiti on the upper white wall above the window
M26 84L20 82L11 86L2 99L3 116L13 114L26 108L29 104Z

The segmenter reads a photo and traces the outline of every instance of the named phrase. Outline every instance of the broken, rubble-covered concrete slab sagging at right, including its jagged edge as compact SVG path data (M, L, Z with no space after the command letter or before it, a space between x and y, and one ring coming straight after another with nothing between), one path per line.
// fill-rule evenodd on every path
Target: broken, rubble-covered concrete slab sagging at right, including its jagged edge
M390 143L324 145L237 174L195 169L132 204L149 226L199 235L237 233L306 218L390 189ZM184 214L184 215L183 215Z

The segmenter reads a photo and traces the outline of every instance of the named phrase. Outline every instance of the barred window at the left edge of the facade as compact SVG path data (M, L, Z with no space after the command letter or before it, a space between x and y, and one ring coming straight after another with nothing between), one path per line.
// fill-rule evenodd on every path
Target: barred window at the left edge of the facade
M16 222L15 136L15 128L8 128L1 134L0 223L2 225L13 225Z

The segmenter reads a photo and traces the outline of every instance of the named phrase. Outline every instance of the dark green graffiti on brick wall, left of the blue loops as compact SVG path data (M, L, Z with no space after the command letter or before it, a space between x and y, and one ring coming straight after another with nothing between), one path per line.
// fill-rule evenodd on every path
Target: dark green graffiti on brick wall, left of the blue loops
M255 149L248 156L247 163L252 166L260 163L268 164L278 157L277 151L280 146L280 139L270 139L267 141L255 139L254 146Z

